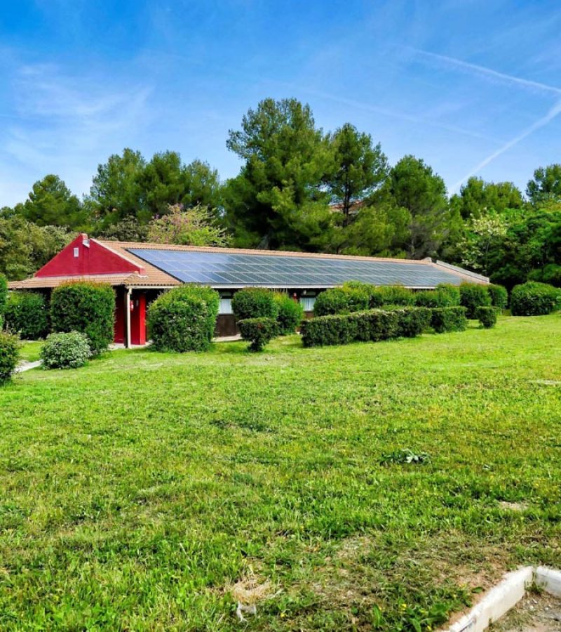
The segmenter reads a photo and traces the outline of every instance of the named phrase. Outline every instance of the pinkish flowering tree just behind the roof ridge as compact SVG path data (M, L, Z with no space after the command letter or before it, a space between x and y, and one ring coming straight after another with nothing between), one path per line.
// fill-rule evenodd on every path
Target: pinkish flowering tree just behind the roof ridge
M149 223L148 241L180 246L228 246L230 237L215 224L208 207L184 209L181 204L169 204L166 215Z

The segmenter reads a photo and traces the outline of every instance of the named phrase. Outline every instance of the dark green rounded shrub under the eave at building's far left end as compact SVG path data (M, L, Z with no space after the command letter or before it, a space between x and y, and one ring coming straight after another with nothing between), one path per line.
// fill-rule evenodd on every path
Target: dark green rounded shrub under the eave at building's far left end
M4 312L6 329L26 340L48 334L48 308L43 294L15 291L8 297Z

